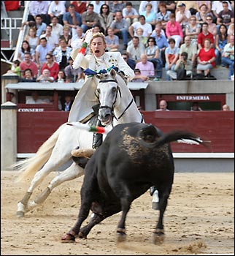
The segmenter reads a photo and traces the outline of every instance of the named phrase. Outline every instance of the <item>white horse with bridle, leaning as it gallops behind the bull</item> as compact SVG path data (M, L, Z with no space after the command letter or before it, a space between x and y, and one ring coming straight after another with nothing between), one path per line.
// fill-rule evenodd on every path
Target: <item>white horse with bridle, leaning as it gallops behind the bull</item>
M121 123L143 121L142 114L136 107L131 91L121 75L118 75L112 69L109 73L96 75L96 77L100 79L96 92L100 102L99 116L101 124L115 126ZM42 204L52 190L64 181L71 181L84 174L84 169L73 162L66 170L58 173L40 195L29 201L34 189L41 184L49 173L58 170L59 167L72 159L71 152L74 148L77 148L77 146L80 149L92 148L92 141L93 133L62 124L40 146L34 157L15 164L15 167L21 170L19 180L33 177L26 194L18 203L18 217L24 217L26 212Z

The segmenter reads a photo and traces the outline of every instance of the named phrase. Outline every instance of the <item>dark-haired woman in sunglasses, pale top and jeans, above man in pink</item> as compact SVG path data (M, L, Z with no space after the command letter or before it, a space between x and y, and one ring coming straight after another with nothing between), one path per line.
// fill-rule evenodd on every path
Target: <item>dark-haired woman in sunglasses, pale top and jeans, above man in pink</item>
M161 78L163 64L160 57L160 50L154 37L147 39L147 48L145 53L147 54L147 60L153 62L154 68L157 71L157 78Z

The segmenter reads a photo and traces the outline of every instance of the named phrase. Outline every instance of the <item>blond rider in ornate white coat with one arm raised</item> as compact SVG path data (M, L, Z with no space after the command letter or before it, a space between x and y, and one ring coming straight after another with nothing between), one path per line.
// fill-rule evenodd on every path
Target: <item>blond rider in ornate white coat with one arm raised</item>
M81 39L80 39L81 40ZM84 46L84 42L85 46ZM82 44L83 43L83 44ZM76 45L77 44L77 45ZM82 48L89 45L88 53L81 53ZM89 29L85 37L80 42L74 42L72 45L73 50L71 53L72 59L74 59L74 69L82 67L82 69L91 69L94 72L99 73L101 70L109 70L112 66L117 67L120 71L124 72L127 81L134 78L134 71L128 66L126 61L118 52L106 52L106 42L104 34L95 33L93 34L93 29ZM83 49L85 50L85 49ZM78 91L77 96L74 99L74 103L69 113L69 122L80 121L85 122L97 112L95 106L99 104L99 100L96 97L96 87L99 83L98 78L95 76L85 76L85 82L82 85L80 91ZM101 125L100 121L96 125ZM94 134L93 137L93 149L96 149L101 145L102 137L101 134Z

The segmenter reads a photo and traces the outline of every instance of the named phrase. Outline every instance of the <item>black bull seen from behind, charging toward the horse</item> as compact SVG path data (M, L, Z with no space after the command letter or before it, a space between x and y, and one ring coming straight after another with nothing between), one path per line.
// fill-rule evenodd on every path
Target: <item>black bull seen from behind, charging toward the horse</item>
M155 186L158 189L158 222L153 232L154 243L163 241L163 214L172 190L174 159L170 142L193 139L190 132L163 134L152 124L119 124L112 129L85 167L81 189L81 206L76 224L62 241L86 238L93 226L122 211L118 223L118 241L126 239L125 222L131 203ZM81 228L90 209L94 216Z

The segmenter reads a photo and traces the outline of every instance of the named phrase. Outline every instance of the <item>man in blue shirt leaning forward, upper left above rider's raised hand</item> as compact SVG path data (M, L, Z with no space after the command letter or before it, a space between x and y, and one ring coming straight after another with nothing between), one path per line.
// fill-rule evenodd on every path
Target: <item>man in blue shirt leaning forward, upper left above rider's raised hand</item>
M77 26L82 25L82 16L80 13L75 12L73 4L69 5L69 12L63 15L63 25L69 26L72 29L72 34L76 34Z

